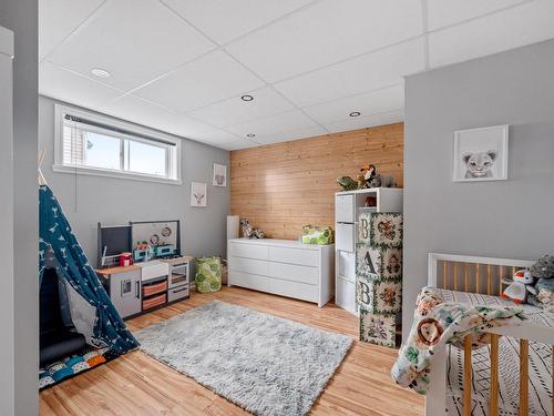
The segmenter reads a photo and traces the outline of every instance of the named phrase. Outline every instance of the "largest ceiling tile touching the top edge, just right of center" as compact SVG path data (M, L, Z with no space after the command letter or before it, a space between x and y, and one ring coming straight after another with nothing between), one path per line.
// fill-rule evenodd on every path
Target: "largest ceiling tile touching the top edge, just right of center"
M421 32L420 1L324 0L226 49L263 79L275 82Z

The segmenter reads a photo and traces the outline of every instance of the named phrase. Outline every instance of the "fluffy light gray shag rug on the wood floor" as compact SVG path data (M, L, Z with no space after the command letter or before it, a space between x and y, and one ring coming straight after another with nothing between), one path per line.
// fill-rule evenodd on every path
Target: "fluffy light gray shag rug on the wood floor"
M255 415L305 415L352 338L214 301L134 334L141 349Z

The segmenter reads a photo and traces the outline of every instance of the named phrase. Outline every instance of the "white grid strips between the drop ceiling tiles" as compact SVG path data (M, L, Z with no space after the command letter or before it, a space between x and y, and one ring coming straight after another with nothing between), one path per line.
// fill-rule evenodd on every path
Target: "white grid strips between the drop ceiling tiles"
M429 19L430 19L430 11L429 11L430 0L420 0L420 4L421 4L420 6L421 7L421 33L419 33L417 35L412 35L412 37L407 38L407 39L402 39L402 40L393 42L393 43L387 43L387 44L384 44L382 47L379 47L379 48L373 48L371 50L366 50L366 51L362 51L362 52L353 54L353 55L349 54L346 58L338 59L338 60L332 60L329 63L326 63L326 64L322 64L322 65L318 65L317 68L304 71L304 72L302 71L294 72L294 74L290 75L290 77L285 77L283 79L273 80L273 81L269 81L268 79L266 79L265 77L263 77L263 74L258 73L256 70L252 69L248 64L246 64L245 62L243 62L239 58L235 57L235 54L233 54L230 51L227 50L227 47L229 44L233 44L234 42L237 42L237 41L242 40L242 39L245 39L247 37L254 35L254 34L256 34L257 32L261 31L263 29L265 29L267 27L270 27L270 26L273 26L273 24L275 24L277 22L284 21L284 20L290 18L291 16L294 16L294 14L296 14L298 12L307 11L310 8L315 7L316 4L324 3L326 0L309 1L309 2L307 2L305 4L301 4L298 8L289 10L288 12L285 12L283 14L277 14L275 18L270 19L269 21L267 21L267 22L265 22L265 23L263 23L260 26L257 26L254 29L247 30L247 31L245 31L244 33L242 33L242 34L239 34L237 37L230 38L229 40L227 40L225 42L217 42L213 37L208 35L208 33L206 33L206 31L203 28L199 28L194 22L189 21L188 19L183 18L183 16L179 12L177 12L170 4L167 4L167 0L156 0L158 3L161 3L162 6L164 6L174 16L178 17L184 23L186 23L188 27L191 27L192 29L194 29L202 37L206 38L209 42L212 42L214 44L214 48L209 49L209 50L207 50L207 51L205 51L203 53L201 53L199 55L196 55L196 57L187 60L186 62L177 65L176 68L172 68L168 71L160 73L155 78L150 79L146 82L141 83L140 85L134 87L134 88L129 89L129 90L123 90L123 89L120 89L120 88L115 88L112 84L107 84L107 83L102 82L101 80L94 78L93 75L85 75L82 72L78 72L75 70L72 70L71 68L64 68L64 67L59 65L59 64L57 64L57 63L54 63L54 62L52 62L52 61L49 60L49 57L51 57L54 51L57 51L61 45L63 45L69 39L71 39L72 37L74 37L75 32L78 32L81 27L83 27L84 24L86 24L88 22L90 22L94 18L94 16L98 14L99 10L105 8L106 4L110 3L111 1L114 1L114 0L104 0L99 7L96 7L83 20L81 20L81 22L75 28L73 28L70 33L68 33L65 37L63 37L63 39L60 41L60 43L58 43L49 53L47 53L44 57L42 57L41 63L42 62L49 62L50 64L59 68L62 71L66 71L69 73L72 73L74 77L79 77L79 78L82 78L82 79L88 80L90 82L99 83L99 84L101 84L103 87L106 87L106 88L113 89L113 90L115 90L117 92L121 92L121 95L117 95L116 98L110 99L106 102L104 102L101 105L103 108L112 105L113 103L117 102L117 100L131 97L131 98L133 98L135 100L142 100L142 101L144 101L145 103L147 103L150 105L154 105L156 108L163 109L163 110L167 111L168 114L175 114L176 116L179 116L179 114L183 114L184 116L186 116L186 118L188 118L191 120L194 120L194 121L196 121L196 122L198 122L201 124L206 125L209 129L209 131L213 131L213 132L216 132L216 131L225 132L230 138L236 138L237 141L246 141L247 143L253 144L253 143L258 143L256 141L258 138L255 138L255 140L252 140L252 139L239 136L238 134L234 133L232 129L228 129L228 126L235 126L235 124L233 124L233 125L229 124L228 126L218 126L218 124L217 123L213 123L213 121L206 121L205 119L201 120L201 119L197 119L197 118L195 118L194 115L191 114L191 113L193 113L193 112L195 112L195 111L197 111L199 109L207 109L207 108L211 108L212 105L215 105L215 104L218 104L218 103L223 103L223 102L225 102L227 100L230 100L233 98L237 98L239 95L230 95L230 97L227 95L225 98L217 99L215 101L209 101L208 103L203 103L199 106L195 106L193 109L188 109L188 110L185 110L185 111L181 112L181 111L176 111L173 108L168 108L168 106L166 106L166 105L164 105L164 104L162 104L160 102L145 99L144 97L138 97L135 93L137 91L140 91L141 89L143 89L144 87L152 85L153 83L155 83L155 82L164 79L168 74L176 73L177 71L182 70L183 68L185 68L185 67L187 67L187 65L189 65L189 64L198 61L199 59L202 59L202 58L204 58L204 57L206 57L206 55L208 55L211 53L214 53L215 51L222 51L222 52L225 53L225 55L227 55L233 61L235 61L240 68L243 68L245 71L247 71L253 78L258 79L259 82L261 83L261 85L258 87L258 88L243 91L242 92L243 94L244 93L253 93L253 92L255 92L257 90L260 90L263 88L268 88L276 95L278 95L280 99L287 101L288 104L290 104L295 109L295 111L298 111L301 114L304 114L304 116L306 116L307 119L309 119L315 125L317 125L322 131L325 131L327 133L330 133L331 131L327 126L327 123L322 123L320 120L315 119L305 109L311 108L311 106L316 106L316 105L322 105L322 104L327 104L327 103L332 103L335 101L340 101L340 100L345 100L345 101L348 102L349 100L347 100L347 99L356 98L358 95L365 95L365 94L368 94L368 93L371 93L371 92L376 92L376 91L380 91L380 90L386 90L388 88L393 88L397 84L392 83L392 84L387 84L387 85L382 85L382 87L379 87L379 88L372 88L371 90L360 90L359 92L356 92L356 93L349 93L349 94L342 94L342 95L338 94L335 98L331 98L331 99L328 99L328 100L324 100L324 101L319 101L319 102L317 102L315 104L312 103L312 104L309 104L309 105L299 105L297 102L295 102L294 100L291 100L286 93L283 93L278 88L276 88L276 84L283 83L283 82L286 82L286 81L289 81L289 80L294 80L296 78L304 77L304 75L307 75L307 74L318 74L319 71L337 67L337 65L339 65L341 63L348 63L350 61L355 61L358 58L369 57L369 55L372 55L372 54L381 52L381 51L391 50L394 47L407 44L408 42L413 42L413 41L417 41L419 39L423 40L423 61L424 61L424 68L422 68L422 71L425 71L425 70L435 68L435 67L432 65L431 58L430 58L431 53L433 53L430 50L430 43L429 43L430 34L434 34L434 33L439 33L439 32L442 32L442 31L447 31L447 30L449 30L451 28L463 27L464 24L468 24L470 22L478 21L480 19L486 19L486 18L492 17L494 14L502 13L502 12L509 11L511 9L520 8L520 7L524 6L524 4L537 3L541 0L522 0L522 1L515 1L515 2L512 2L512 3L507 4L507 6L497 7L495 9L492 9L492 10L488 11L488 12L482 12L482 13L476 14L476 16L471 16L471 17L469 17L466 19L454 21L453 23L441 26L441 27L438 27L437 29L432 29L432 30L430 30L430 26L429 26ZM507 2L509 1L505 1L505 3L507 3ZM553 22L553 24L554 24L554 22ZM417 72L412 72L412 73L417 73ZM408 74L411 74L411 73L402 74L402 77L403 75L408 75ZM322 88L325 88L325 85L322 85ZM47 91L45 94L49 95L48 91ZM223 94L222 94L222 97L223 97ZM54 97L54 98L57 98L57 97ZM65 100L65 101L68 101L68 100ZM69 100L69 102L71 102L71 100ZM239 102L238 104L240 105L243 103ZM403 108L403 103L402 103L402 108ZM91 110L101 111L101 109L99 109L99 108L93 108ZM355 111L355 110L357 111L357 109L345 109L345 114L348 114L346 111ZM399 109L399 111L401 111L401 110L402 109ZM381 111L381 112L377 112L377 113L369 113L369 114L365 114L363 113L362 115L367 116L367 118L371 118L371 116L378 118L381 114L392 113L394 111L397 111L397 110L393 110L393 111L387 110L387 111ZM255 121L255 120L263 121L264 119L270 119L273 116L276 116L276 115L279 115L279 114L285 114L285 113L287 113L287 111L280 111L280 112L277 112L277 113L265 114L263 116L258 116L256 119L253 119L252 121ZM345 114L342 114L341 116L343 116ZM112 114L112 115L117 116L116 114ZM348 124L347 123L348 119L345 118L343 120L345 120L343 123ZM131 121L133 121L133 120L131 120ZM249 123L249 122L250 121L246 121L246 122L242 122L239 124ZM151 128L154 128L154 129L158 129L158 130L163 130L163 129L160 129L160 128L157 128L155 125L147 125L147 126L151 126ZM306 129L308 129L308 126ZM256 132L253 132L253 133L256 133ZM172 132L172 134L177 134L177 133ZM183 135L183 136L186 136L186 135ZM199 139L197 139L197 138L191 138L191 139L198 140L198 141L203 141L204 140L206 142L209 142L209 138L207 138L207 136L206 138L199 138ZM298 139L301 139L301 138L299 136ZM293 140L296 140L296 139L293 139ZM259 141L263 142L261 139L259 139ZM215 143L209 143L209 144L215 145ZM227 144L228 144L228 142L222 143L222 145L227 145Z

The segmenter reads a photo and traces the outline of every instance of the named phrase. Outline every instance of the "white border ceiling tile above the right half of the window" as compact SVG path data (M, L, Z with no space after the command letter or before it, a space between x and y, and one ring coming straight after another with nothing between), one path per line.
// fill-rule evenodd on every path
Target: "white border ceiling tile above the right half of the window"
M104 105L102 112L188 139L214 130L211 125L133 95L114 100Z

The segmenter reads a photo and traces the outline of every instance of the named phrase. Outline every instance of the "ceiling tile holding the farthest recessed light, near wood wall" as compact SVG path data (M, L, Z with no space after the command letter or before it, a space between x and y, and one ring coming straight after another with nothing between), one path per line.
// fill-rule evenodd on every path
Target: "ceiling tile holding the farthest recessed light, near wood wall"
M309 116L304 114L300 110L294 110L286 113L267 116L249 121L247 123L232 125L226 130L238 134L244 138L246 134L256 134L254 141L259 141L259 138L273 133L284 133L294 130L317 126Z

